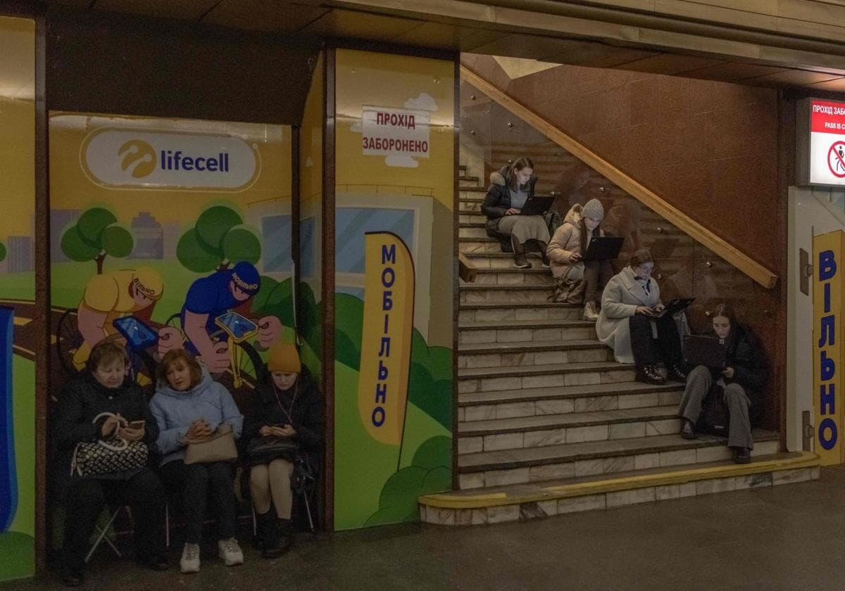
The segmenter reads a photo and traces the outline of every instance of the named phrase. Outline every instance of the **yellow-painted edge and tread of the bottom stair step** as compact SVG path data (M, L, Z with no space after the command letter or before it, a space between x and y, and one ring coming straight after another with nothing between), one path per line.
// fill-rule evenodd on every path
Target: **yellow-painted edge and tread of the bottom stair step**
M487 489L441 492L420 496L418 502L427 507L444 509L477 509L517 505L526 502L553 501L576 496L598 495L607 492L630 491L652 486L682 485L700 480L723 479L763 472L813 468L820 465L819 457L810 452L781 452L752 458L750 464L729 461L667 466L651 474L642 470L576 477L570 483L549 480L531 484L493 486ZM637 473L640 474L637 474ZM518 494L508 495L509 490ZM521 491L519 494L518 491Z

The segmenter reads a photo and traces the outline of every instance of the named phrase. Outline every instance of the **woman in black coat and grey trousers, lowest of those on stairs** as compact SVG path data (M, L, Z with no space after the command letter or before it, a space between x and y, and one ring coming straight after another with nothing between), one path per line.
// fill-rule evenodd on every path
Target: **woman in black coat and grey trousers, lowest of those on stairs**
M723 395L730 415L728 447L734 462L747 464L751 460L750 450L754 449L751 427L762 417L760 392L768 378L766 355L751 329L737 323L733 309L725 304L713 312L711 333L724 341L727 365L723 370L696 366L690 371L678 409L683 421L681 436L695 439L695 423L707 393Z

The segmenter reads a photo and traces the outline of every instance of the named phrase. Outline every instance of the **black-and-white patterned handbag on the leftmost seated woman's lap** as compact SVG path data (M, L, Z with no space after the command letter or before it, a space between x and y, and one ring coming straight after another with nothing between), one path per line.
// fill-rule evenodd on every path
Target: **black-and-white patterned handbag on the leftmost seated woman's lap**
M100 413L92 422L101 417L113 416L112 413ZM117 432L117 430L115 430ZM107 441L79 442L74 448L70 463L70 474L77 476L96 476L111 474L136 468L144 468L150 450L144 442L128 442L121 436L112 436Z

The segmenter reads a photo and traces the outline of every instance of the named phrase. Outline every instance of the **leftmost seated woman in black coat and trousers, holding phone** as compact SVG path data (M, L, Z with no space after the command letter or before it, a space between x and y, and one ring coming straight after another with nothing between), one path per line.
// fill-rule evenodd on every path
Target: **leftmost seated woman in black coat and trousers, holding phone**
M165 496L158 476L147 466L95 475L74 474L72 467L74 449L81 442L119 437L153 448L158 427L141 388L129 379L128 367L123 347L112 341L96 344L87 370L62 389L53 417L57 469L71 474L61 572L62 581L68 586L83 582L88 539L106 502L132 507L136 560L155 570L167 568Z

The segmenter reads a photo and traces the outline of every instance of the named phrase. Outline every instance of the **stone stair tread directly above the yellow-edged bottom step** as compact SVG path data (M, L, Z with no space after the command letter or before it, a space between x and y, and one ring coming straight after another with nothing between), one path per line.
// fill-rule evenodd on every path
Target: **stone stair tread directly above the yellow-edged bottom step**
M754 430L754 441L769 442L779 439L773 431ZM648 453L677 452L699 447L717 447L725 445L725 437L701 435L697 439L682 439L679 435L657 435L632 437L630 439L611 439L579 443L562 443L553 446L521 447L492 452L463 453L458 456L458 472L472 474L490 470L530 468L547 464L565 464L588 459L621 458L630 455ZM645 445L640 445L645 444ZM625 447L628 446L628 447ZM580 451L580 450L587 451ZM497 456L507 455L508 459L496 461ZM484 457L491 458L482 462ZM520 458L522 456L522 458ZM534 457L532 457L534 456ZM477 461L477 464L463 464L461 460Z

